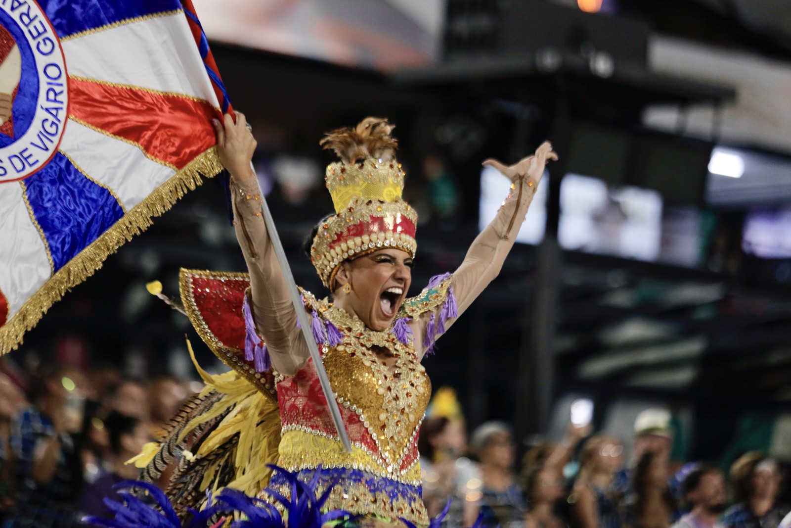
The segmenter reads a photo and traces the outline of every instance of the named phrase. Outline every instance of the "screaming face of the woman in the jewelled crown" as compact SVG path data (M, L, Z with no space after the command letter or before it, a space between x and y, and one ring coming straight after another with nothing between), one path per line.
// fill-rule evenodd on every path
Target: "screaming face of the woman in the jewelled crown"
M335 275L336 303L369 329L390 328L412 283L412 257L401 249L380 249L346 260ZM343 292L349 283L351 291Z

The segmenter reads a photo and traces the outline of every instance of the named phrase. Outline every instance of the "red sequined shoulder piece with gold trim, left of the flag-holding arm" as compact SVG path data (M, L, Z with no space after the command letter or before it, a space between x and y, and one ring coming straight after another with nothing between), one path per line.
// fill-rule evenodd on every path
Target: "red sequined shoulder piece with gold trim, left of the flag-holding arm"
M195 331L222 363L236 370L272 401L277 401L273 375L255 372L244 359L242 304L250 286L247 273L209 272L182 268L181 302Z

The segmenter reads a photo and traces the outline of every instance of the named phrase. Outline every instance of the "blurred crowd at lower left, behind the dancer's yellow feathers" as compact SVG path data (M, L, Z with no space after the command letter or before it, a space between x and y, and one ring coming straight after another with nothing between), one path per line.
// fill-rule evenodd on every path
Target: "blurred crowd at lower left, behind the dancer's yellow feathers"
M3 528L86 526L85 515L110 516L103 498L140 474L125 462L157 438L188 393L171 376L144 382L112 368L0 370Z

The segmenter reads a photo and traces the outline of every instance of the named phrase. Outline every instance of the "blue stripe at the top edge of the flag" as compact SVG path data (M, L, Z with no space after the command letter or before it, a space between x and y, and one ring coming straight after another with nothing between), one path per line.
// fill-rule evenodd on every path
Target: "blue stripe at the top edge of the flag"
M39 0L60 38L103 25L181 9L179 0Z

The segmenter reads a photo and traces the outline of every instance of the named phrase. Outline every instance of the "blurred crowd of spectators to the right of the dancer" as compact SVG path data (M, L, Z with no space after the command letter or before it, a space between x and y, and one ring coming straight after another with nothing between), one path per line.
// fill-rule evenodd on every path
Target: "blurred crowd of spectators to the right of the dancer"
M761 453L743 454L728 474L710 462L673 462L664 409L638 416L630 460L619 439L591 433L570 424L561 442L527 446L517 472L517 444L506 424L482 424L467 442L460 416L430 416L419 443L426 507L437 515L451 500L447 526L480 519L486 528L791 525L791 505L779 500L781 466Z

